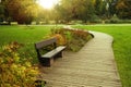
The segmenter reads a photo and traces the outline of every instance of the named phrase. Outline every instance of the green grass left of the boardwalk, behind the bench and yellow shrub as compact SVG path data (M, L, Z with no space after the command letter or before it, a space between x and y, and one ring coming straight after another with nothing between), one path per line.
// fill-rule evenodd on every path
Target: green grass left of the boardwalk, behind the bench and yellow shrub
M12 41L23 44L20 54L37 62L34 44L45 39L55 26L0 26L0 49ZM24 53L23 53L24 52Z

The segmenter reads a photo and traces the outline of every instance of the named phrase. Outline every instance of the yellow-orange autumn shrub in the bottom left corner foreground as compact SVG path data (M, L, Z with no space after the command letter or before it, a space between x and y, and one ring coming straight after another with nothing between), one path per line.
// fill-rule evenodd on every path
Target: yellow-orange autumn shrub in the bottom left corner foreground
M35 87L38 69L29 61L21 62L17 49L22 45L11 42L0 52L0 87Z

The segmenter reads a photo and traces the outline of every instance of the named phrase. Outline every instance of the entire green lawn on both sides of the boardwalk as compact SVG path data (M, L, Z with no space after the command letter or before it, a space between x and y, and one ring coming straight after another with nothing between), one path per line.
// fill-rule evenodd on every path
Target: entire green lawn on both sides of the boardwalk
M55 26L0 26L0 48L11 41L17 41L24 45L20 52L25 52L25 54L21 54L26 58L32 57L33 61L37 62L34 42L48 36L52 27ZM79 25L73 27L104 32L114 36L115 58L122 85L131 87L131 25Z

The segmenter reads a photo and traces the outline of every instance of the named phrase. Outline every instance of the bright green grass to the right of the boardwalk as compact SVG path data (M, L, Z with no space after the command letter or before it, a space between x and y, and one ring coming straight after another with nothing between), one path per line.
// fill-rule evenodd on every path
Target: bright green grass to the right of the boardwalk
M111 35L114 52L123 87L131 87L131 25L73 26Z

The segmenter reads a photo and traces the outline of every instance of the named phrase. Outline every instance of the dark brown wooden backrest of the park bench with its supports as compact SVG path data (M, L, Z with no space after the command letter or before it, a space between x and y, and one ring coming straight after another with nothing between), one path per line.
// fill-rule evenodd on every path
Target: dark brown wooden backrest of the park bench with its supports
M57 47L57 38L50 38L50 39L47 39L47 40L44 40L44 41L39 41L39 42L36 42L35 44L35 49L37 51L37 55L38 58L40 57L40 52L39 50L46 46L49 46L49 45L53 45L53 48Z

